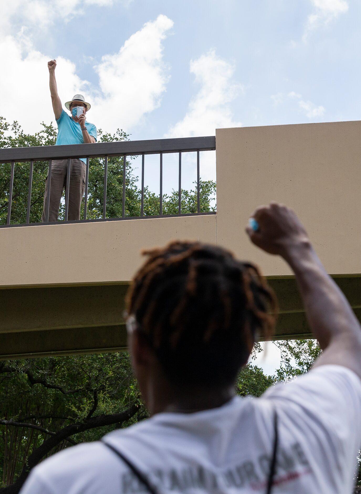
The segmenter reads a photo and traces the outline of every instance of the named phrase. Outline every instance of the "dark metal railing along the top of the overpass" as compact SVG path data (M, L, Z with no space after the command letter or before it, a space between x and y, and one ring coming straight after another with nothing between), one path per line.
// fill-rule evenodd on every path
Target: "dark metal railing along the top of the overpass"
M154 218L164 217L163 215L163 154L165 153L178 153L179 154L179 177L178 177L178 214L167 214L169 216L187 216L199 215L199 214L214 214L213 212L201 212L200 207L200 151L210 151L216 149L216 137L186 137L178 139L154 139L146 141L121 141L121 142L102 142L95 144L74 144L67 146L38 146L38 147L26 147L26 148L5 148L0 149L0 164L10 163L10 173L8 189L5 190L6 198L3 198L3 204L7 199L7 217L6 224L0 225L0 227L11 226L30 226L41 224L64 224L76 223L76 222L88 222L88 221L109 221L109 220L124 220L124 219L136 219L136 218ZM182 153L196 152L197 153L197 211L193 213L181 213L181 165L182 165ZM149 154L159 155L159 171L160 171L160 195L159 195L159 215L145 215L144 214L144 156ZM126 215L126 166L127 157L142 156L142 175L141 175L141 207L139 216ZM119 170L122 173L122 208L121 217L109 218L107 217L107 180L108 180L108 159L111 157L122 158L122 169ZM68 208L69 208L69 180L71 160L73 158L86 158L86 175L85 175L85 194L84 194L84 212L83 219L78 221L68 221ZM87 202L88 202L88 178L89 178L89 159L102 158L104 159L104 193L103 193L103 215L102 218L89 219L87 218ZM53 160L67 159L68 160L68 173L67 173L67 185L65 195L65 212L64 221L58 221L56 223L49 223L49 200L50 200L50 186L51 186L51 163ZM16 167L18 164L30 162L29 168L29 186L28 186L28 202L26 210L26 222L25 223L11 223L11 205L13 199L13 187L14 177L16 179ZM47 204L45 205L46 222L34 223L30 222L31 204L32 204L32 184L33 173L36 162L48 162L48 195ZM15 166L16 164L16 166ZM4 166L4 165L3 165ZM25 212L25 211L24 211ZM6 214L6 210L4 211Z

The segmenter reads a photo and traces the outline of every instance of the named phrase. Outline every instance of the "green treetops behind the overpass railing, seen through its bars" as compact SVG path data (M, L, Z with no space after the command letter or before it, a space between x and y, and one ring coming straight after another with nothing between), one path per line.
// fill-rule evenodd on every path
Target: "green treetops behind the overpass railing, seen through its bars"
M41 124L41 130L34 135L26 134L18 122L9 124L0 117L0 148L50 146L56 141L57 130L53 124ZM123 130L117 130L114 134L98 131L98 142L113 142L128 140L129 135ZM125 216L141 215L141 189L138 185L138 177L132 166L132 157L126 161L125 178ZM87 218L99 219L103 217L104 197L104 158L91 158L89 160L89 179L87 196ZM0 224L6 223L9 201L10 163L0 165ZM32 200L30 222L39 223L43 209L43 197L45 190L45 178L48 171L48 162L34 162ZM26 210L28 204L30 163L15 163L13 196L11 205L11 223L22 224L26 222ZM200 210L201 212L214 211L216 183L212 180L200 181ZM123 157L108 158L107 179L107 214L108 218L122 216L123 195ZM163 194L163 214L178 214L178 191L171 194ZM59 220L64 219L64 196L59 210ZM190 191L181 191L181 212L197 212L197 188ZM144 187L144 215L156 216L160 214L159 195ZM84 217L84 200L81 204L80 217Z

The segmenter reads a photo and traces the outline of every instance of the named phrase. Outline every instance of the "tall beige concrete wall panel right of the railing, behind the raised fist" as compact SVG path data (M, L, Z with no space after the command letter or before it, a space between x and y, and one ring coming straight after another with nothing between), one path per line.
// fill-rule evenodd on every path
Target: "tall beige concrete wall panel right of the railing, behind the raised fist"
M244 227L275 200L295 209L329 273L361 273L361 122L218 129L217 242L290 274L253 247Z

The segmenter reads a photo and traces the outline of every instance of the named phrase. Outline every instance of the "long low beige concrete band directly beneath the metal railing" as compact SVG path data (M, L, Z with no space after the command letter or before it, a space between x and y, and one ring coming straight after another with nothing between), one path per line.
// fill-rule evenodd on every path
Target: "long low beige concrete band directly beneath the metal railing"
M0 286L130 281L142 248L172 239L216 242L216 216L0 229Z

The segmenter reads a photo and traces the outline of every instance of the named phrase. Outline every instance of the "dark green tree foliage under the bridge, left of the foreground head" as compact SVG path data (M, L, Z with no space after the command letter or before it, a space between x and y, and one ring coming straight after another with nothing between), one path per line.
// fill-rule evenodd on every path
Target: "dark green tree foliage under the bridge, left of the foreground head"
M126 352L0 363L0 492L41 459L147 416Z

